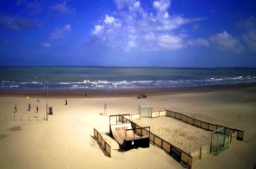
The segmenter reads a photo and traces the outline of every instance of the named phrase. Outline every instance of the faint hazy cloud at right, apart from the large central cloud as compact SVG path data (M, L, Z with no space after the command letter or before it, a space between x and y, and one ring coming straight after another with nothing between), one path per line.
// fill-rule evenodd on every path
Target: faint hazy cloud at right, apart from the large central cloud
M222 50L241 52L244 49L240 41L229 35L225 30L222 33L210 37L210 41L213 42L218 49Z

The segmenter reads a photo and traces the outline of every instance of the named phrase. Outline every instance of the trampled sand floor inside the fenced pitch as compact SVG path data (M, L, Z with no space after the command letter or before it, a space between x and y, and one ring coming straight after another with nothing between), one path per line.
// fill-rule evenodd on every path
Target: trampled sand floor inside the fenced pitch
M170 117L141 118L134 121L140 127L150 127L152 133L158 133L156 135L186 153L194 153L211 142L210 132Z

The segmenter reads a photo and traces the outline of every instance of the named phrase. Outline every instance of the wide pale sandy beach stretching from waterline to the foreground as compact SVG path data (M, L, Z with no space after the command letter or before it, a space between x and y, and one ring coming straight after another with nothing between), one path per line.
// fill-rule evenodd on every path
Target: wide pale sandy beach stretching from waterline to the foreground
M193 160L193 168L253 168L256 164L256 87L231 86L176 90L49 91L46 114L45 92L0 91L1 168L183 168L159 147L121 150L109 137L108 116L138 114L138 106L153 111L176 111L199 120L245 131L245 139L232 140L225 152L205 154ZM139 92L147 99L137 99ZM85 96L88 93L88 96ZM28 99L27 96L30 98ZM65 100L68 105L65 105ZM31 105L28 111L28 105ZM107 103L107 115L104 104ZM14 107L17 107L16 113ZM39 111L36 112L36 105ZM15 117L15 119L14 119ZM187 153L207 144L209 132L169 117L136 120L141 126ZM94 128L112 147L108 158L93 139Z

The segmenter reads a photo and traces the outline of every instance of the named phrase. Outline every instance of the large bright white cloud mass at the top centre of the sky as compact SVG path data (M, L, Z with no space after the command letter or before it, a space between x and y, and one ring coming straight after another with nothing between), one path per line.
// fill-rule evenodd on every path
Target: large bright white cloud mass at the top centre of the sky
M186 48L187 34L184 29L179 29L203 19L170 16L167 11L171 4L169 0L154 1L151 9L148 6L143 9L141 1L116 0L115 3L118 10L113 16L105 15L91 30L93 44L126 51ZM202 40L190 43L207 45Z

